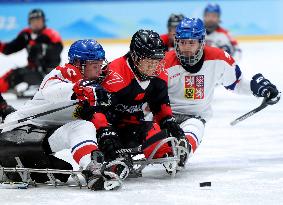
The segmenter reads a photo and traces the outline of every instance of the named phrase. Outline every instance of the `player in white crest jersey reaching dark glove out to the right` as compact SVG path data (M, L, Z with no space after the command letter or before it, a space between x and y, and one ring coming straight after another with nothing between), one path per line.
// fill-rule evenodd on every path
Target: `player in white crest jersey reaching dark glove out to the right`
M175 50L165 56L168 94L177 122L191 146L191 154L201 143L205 122L211 117L211 101L216 84L239 94L279 100L278 90L262 74L243 79L234 59L219 48L205 46L205 27L200 19L185 18L176 28Z

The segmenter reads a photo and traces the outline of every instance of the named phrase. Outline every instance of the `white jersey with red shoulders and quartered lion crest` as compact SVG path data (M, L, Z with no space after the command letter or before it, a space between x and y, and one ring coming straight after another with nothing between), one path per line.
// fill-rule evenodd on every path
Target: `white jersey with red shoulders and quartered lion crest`
M244 80L234 59L219 48L204 47L203 62L196 73L186 71L176 52L165 56L168 71L168 94L174 114L197 115L208 120L216 84L240 94L251 94L250 81Z

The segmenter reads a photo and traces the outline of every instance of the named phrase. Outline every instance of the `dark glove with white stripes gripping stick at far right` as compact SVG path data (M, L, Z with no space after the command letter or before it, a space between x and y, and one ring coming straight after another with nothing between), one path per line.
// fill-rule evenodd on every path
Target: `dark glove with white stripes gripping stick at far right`
M268 100L278 96L275 85L264 78L261 73L256 74L251 80L251 90L257 97L266 97Z

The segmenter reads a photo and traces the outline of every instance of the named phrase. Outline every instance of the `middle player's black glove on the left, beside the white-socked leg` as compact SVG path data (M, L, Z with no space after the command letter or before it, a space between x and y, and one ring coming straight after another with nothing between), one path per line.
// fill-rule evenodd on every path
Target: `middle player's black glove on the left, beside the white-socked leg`
M118 157L116 151L121 149L120 139L111 127L100 128L96 134L98 147L104 154L105 161L112 161Z

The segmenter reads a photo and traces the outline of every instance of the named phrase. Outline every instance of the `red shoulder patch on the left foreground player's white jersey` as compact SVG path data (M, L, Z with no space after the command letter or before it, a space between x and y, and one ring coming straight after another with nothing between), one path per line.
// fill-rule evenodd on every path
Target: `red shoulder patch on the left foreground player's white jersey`
M57 66L53 70L53 72L55 75L56 73L59 73L60 75L62 75L64 79L69 80L72 83L75 83L80 79L82 79L80 70L71 64L65 64L64 66Z

